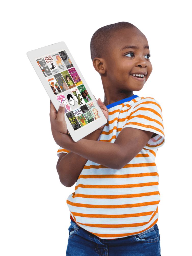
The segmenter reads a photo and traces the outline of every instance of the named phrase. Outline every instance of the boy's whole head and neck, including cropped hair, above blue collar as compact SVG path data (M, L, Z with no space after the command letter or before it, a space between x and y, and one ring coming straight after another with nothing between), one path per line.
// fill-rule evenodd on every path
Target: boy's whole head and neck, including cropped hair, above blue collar
M125 46L136 48L123 49ZM129 22L118 22L95 31L90 41L91 60L99 73L105 93L104 104L111 104L140 91L152 72L146 36ZM145 73L143 81L131 74Z

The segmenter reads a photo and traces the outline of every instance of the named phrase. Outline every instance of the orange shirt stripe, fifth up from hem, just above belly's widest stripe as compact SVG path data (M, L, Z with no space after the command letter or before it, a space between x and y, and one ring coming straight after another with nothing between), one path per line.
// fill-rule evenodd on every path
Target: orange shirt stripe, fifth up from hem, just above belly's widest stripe
M72 198L82 197L82 198L101 198L101 199L117 199L117 198L132 198L132 197L141 197L141 196L154 196L160 195L159 191L148 192L148 193L140 193L140 194L128 194L128 195L84 195L84 194L75 194L72 193Z

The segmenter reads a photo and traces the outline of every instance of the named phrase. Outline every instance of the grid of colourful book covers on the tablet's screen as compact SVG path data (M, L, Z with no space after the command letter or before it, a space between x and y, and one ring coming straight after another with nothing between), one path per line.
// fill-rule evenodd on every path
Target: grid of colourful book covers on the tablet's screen
M83 85L81 77L65 50L36 59L47 86L50 86L58 102L65 104L67 116L74 131L100 118L100 114Z

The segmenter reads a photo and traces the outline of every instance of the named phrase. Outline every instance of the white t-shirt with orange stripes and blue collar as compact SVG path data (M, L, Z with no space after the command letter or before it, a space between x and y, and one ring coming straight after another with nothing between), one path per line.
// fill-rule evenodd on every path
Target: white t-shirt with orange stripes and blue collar
M159 173L155 163L165 144L160 103L153 97L132 97L106 106L108 122L98 141L114 143L126 127L156 133L146 146L120 170L87 161L67 197L70 217L78 226L100 239L117 239L139 234L159 219ZM59 147L61 152L70 151Z

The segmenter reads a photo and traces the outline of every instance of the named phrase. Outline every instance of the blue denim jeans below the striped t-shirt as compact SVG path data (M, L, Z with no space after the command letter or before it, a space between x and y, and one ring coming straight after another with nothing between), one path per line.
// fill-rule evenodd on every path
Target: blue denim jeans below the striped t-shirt
M143 233L116 240L100 239L71 220L66 256L161 256L157 223Z

